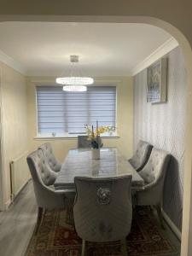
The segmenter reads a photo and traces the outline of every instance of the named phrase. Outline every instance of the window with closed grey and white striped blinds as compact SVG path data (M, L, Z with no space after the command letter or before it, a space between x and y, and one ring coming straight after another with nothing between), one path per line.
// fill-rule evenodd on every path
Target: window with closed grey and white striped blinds
M116 125L116 87L88 86L66 92L61 86L37 86L38 134L64 136L84 133L84 125Z

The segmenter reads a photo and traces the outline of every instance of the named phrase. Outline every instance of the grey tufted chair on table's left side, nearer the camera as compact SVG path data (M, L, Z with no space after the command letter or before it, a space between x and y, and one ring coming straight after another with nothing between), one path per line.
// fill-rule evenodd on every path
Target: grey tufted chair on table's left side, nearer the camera
M29 154L26 160L32 175L38 207L48 209L64 207L64 196L48 187L49 184L54 183L56 173L50 170L42 150L38 149Z

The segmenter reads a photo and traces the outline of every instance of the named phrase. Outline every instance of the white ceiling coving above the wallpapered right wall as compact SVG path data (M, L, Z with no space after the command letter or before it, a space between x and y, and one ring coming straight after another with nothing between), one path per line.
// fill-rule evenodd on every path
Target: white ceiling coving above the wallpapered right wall
M140 73L144 68L150 66L177 46L178 43L175 38L168 39L164 44L161 44L159 48L155 49L152 54L148 55L147 58L137 64L137 66L131 70L131 75L135 76L137 73Z

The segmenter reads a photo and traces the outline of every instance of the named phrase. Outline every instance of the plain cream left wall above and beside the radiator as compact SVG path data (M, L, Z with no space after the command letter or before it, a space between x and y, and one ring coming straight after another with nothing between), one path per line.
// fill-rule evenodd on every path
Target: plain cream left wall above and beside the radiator
M3 133L3 196L10 202L9 163L28 148L26 116L26 78L11 67L0 63L2 133Z

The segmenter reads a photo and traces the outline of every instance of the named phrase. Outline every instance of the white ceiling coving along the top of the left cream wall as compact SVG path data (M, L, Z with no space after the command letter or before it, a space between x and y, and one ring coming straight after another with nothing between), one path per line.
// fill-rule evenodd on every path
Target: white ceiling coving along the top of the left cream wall
M0 61L8 65L9 67L12 67L19 73L26 75L26 68L23 67L18 61L15 61L13 58L9 57L9 55L6 55L1 49L0 49Z

